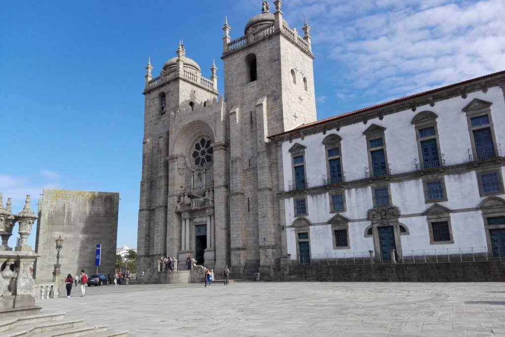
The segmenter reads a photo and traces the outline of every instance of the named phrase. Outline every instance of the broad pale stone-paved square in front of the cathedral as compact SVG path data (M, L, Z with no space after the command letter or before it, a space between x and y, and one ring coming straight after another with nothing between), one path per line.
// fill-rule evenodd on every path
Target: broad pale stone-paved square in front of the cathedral
M270 283L78 288L40 300L130 336L504 336L503 283Z

